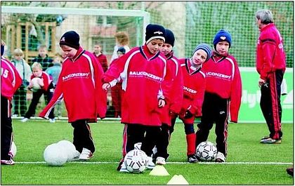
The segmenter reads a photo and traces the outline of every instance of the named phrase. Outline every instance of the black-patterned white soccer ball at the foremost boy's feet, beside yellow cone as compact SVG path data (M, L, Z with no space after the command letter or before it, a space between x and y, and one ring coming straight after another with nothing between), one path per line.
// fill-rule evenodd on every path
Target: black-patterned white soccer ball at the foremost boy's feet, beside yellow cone
M147 155L142 150L131 150L126 154L124 164L130 173L142 173L147 166Z

